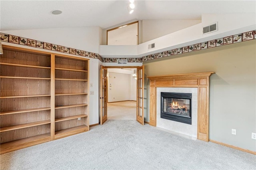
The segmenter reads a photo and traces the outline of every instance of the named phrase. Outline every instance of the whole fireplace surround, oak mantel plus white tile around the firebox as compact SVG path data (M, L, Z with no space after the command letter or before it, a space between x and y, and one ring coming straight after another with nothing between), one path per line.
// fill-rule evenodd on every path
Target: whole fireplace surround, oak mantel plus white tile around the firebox
M212 73L214 72L148 77L150 79L150 125L197 137L208 142L209 77ZM168 105L165 104L166 112L170 112L170 115L176 113L182 115L182 117L191 117L191 124L161 118L161 92L187 93L192 95L190 101L191 115L187 108L189 102L180 99L180 97L176 97L178 100L173 97L174 103L169 102ZM173 107L173 105L178 104L182 106Z

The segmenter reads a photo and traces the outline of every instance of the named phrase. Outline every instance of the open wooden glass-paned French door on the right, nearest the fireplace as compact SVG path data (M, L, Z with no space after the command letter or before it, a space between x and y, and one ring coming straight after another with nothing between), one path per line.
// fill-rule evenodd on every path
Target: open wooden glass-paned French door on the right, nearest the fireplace
M144 65L137 68L137 111L136 120L144 125Z

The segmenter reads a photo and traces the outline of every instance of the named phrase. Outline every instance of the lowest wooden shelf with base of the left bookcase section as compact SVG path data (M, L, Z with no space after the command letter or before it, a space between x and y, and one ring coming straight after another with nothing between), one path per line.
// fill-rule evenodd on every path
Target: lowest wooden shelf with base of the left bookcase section
M10 142L1 143L1 154L11 152L17 149L21 149L21 148L26 148L28 146L33 146L35 144L48 142L50 140L51 140L51 134L45 133L45 134L40 134L40 135L22 138L18 140L13 140Z

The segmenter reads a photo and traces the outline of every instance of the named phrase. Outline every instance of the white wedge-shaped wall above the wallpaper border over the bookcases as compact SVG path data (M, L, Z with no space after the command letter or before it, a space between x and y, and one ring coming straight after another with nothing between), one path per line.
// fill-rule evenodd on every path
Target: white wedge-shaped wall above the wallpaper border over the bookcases
M99 53L99 27L48 28L1 31L2 33Z

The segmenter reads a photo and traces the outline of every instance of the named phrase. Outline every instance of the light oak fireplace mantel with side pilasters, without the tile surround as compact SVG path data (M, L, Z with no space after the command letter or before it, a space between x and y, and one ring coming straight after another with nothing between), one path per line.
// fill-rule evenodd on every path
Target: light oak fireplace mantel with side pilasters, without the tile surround
M209 77L214 72L151 76L150 122L156 126L156 87L197 87L197 138L209 141Z

